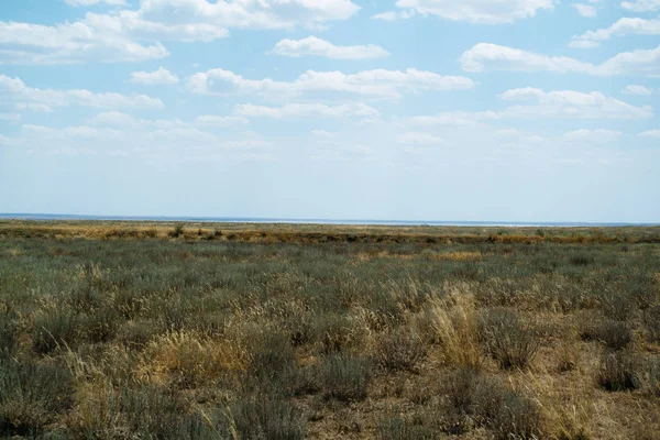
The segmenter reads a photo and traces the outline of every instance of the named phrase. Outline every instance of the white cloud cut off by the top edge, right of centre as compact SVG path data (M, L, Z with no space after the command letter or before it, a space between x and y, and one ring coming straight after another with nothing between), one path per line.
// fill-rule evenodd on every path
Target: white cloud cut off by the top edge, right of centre
M554 0L397 0L396 6L421 15L471 23L513 23L535 16L539 10L551 10Z

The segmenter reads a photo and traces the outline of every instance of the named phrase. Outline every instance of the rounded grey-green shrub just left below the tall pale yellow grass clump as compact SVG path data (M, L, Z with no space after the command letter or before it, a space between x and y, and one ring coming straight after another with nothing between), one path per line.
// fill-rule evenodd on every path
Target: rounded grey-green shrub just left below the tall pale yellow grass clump
M425 342L408 329L399 328L385 334L377 348L380 365L393 372L416 372L425 356Z

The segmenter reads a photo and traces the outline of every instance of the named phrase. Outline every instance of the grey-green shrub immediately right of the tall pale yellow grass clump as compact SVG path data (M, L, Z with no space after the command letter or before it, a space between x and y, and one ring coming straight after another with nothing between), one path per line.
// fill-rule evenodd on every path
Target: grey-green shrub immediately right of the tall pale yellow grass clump
M482 336L486 350L502 369L522 369L540 349L536 329L521 322L515 311L491 309L482 318Z

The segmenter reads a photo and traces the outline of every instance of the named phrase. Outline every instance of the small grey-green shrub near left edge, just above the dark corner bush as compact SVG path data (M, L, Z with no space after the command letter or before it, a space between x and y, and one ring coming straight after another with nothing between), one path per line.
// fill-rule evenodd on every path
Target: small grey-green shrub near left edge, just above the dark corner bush
M32 332L34 351L48 354L56 349L74 345L79 336L78 322L78 316L66 309L37 315Z

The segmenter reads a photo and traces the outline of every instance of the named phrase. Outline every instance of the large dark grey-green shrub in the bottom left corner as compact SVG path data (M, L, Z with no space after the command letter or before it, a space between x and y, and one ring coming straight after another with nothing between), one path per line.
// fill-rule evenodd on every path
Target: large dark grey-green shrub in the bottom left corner
M0 360L0 433L35 436L73 403L67 369L52 362Z

